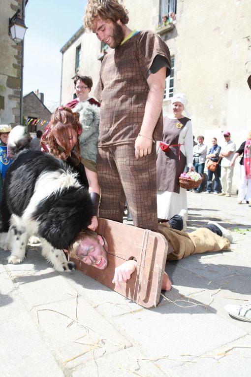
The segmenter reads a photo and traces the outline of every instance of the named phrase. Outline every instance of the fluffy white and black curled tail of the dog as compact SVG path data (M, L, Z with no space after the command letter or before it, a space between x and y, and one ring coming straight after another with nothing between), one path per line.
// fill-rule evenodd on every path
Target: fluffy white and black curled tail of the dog
M24 126L14 127L9 134L8 148L11 156L21 150L30 148L31 137L26 134Z

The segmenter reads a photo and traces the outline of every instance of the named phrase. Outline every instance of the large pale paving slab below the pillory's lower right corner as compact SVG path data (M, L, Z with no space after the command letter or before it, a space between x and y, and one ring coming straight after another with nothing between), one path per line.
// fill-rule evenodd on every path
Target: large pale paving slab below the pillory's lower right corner
M179 360L182 354L202 355L247 334L203 307L180 308L172 303L116 317L114 322L139 344L141 352L148 357L170 355ZM162 371L179 363L170 360L156 362Z

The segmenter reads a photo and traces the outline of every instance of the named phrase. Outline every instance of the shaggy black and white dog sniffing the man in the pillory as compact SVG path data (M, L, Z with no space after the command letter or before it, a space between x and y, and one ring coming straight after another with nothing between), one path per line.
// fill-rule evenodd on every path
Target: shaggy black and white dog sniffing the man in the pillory
M8 263L21 263L29 237L37 236L42 255L55 270L72 271L75 265L66 260L63 249L91 223L93 204L76 172L51 154L22 150L29 142L23 126L10 132L14 161L3 184L1 246L11 250Z

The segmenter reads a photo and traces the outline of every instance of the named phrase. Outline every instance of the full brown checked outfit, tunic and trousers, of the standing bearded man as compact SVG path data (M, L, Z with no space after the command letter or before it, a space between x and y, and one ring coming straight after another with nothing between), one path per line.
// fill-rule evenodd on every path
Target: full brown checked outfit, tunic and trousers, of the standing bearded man
M134 143L149 93L147 78L160 68L170 74L167 45L152 31L133 34L110 51L100 69L95 97L101 101L97 172L100 217L123 221L127 199L135 226L157 231L156 152L135 158ZM162 137L162 113L153 138ZM155 197L155 198L154 198Z

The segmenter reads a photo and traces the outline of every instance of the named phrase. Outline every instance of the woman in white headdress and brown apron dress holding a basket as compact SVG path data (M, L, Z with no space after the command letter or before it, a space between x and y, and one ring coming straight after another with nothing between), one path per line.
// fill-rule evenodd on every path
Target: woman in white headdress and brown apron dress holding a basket
M157 212L159 221L169 220L188 208L187 190L180 187L179 176L192 165L192 124L186 109L187 97L176 94L172 100L173 117L163 117L163 135L157 153ZM167 145L165 145L167 144ZM169 147L168 147L169 145Z

